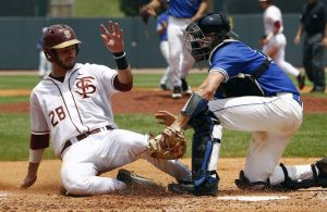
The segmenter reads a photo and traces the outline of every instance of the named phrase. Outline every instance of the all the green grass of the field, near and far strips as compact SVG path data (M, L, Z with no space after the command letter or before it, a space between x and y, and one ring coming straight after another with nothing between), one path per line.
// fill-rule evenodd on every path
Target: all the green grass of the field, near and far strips
M161 73L144 74L134 73L135 87L157 87ZM187 80L190 85L197 87L206 77L206 72L192 73ZM37 75L13 75L0 76L0 89L32 89L39 78ZM314 96L327 97L326 93L315 93ZM1 97L0 103L27 102L28 97ZM131 129L142 134L153 132L157 134L162 126L156 125L156 120L152 115L118 114L114 116L117 124L121 128ZM284 157L323 157L327 149L327 114L305 114L301 129L291 139L286 150ZM189 149L186 157L191 152L192 130L186 130ZM251 134L241 132L223 132L221 145L221 157L245 157ZM29 115L17 113L0 113L0 160L26 160L28 158L29 145ZM46 151L46 159L53 159L50 148Z

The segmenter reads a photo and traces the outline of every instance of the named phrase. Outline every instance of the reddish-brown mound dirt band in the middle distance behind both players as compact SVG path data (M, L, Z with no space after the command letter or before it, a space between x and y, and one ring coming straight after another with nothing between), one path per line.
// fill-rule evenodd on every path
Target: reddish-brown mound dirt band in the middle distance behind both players
M31 90L0 90L2 96L28 96ZM113 112L155 114L158 110L169 110L177 113L187 98L173 100L170 91L159 89L134 89L125 93L117 93L112 98ZM302 95L305 113L327 112L327 98ZM28 102L0 104L0 112L28 112Z

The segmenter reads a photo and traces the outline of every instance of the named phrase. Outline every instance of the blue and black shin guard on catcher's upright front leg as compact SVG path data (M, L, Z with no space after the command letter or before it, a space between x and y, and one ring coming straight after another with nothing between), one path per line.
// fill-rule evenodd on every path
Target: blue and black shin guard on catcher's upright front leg
M192 178L194 182L194 195L216 196L218 192L219 176L216 173L221 126L214 122L207 111L190 121L194 128L192 141ZM216 124L216 125L215 125ZM215 133L216 130L216 133Z

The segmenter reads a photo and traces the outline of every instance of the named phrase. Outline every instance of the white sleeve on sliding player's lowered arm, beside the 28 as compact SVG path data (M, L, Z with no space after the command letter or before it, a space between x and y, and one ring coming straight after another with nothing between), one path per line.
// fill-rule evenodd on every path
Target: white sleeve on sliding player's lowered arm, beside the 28
M31 110L31 133L33 135L47 135L50 133L47 120L41 110L40 102L35 92L29 97L29 110Z

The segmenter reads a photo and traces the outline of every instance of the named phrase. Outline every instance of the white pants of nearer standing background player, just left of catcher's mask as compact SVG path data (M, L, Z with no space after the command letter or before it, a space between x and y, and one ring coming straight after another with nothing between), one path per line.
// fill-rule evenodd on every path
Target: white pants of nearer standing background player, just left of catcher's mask
M184 29L191 23L191 18L177 18L169 16L168 42L169 65L171 68L172 86L181 86L181 78L185 78L194 64L193 57L189 53L183 39Z

